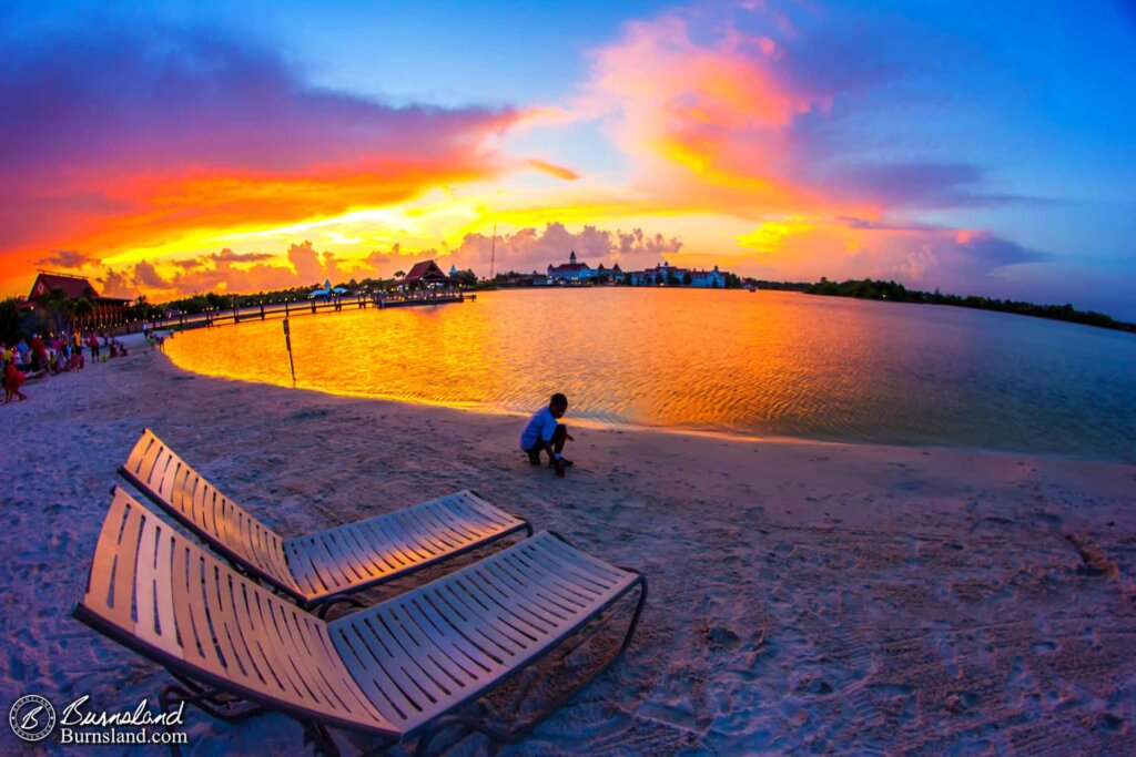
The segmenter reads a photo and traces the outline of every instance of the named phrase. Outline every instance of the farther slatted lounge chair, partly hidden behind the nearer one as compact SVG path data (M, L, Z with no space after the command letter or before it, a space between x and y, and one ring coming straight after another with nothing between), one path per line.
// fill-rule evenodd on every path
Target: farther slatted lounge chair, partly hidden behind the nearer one
M126 480L250 575L308 609L449 560L519 531L524 519L466 490L354 523L285 539L224 496L145 429Z

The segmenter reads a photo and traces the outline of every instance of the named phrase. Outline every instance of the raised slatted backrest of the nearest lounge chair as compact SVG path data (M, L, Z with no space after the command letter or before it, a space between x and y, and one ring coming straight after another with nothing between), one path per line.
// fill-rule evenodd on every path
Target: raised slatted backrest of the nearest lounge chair
M170 671L301 720L396 734L327 624L235 572L124 490L75 616Z

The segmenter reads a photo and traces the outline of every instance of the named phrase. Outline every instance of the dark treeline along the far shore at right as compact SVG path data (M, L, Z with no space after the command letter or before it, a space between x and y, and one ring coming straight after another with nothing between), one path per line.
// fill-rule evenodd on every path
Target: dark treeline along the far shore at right
M920 292L919 289L909 289L902 284L896 284L895 281L883 281L876 279L847 279L846 281L837 283L829 281L827 278L821 277L819 281L810 284L802 291L805 294L819 294L829 297L886 300L888 302L913 302L925 305L953 305L955 308L992 310L1000 313L1049 318L1050 320L1055 321L1097 326L1100 328L1109 328L1118 331L1130 331L1136 334L1136 323L1118 321L1111 316L1097 313L1092 310L1077 310L1071 304L1038 305L1033 302L1019 302L1017 300L996 300L993 297L978 297L974 295L961 296L958 294L941 294L938 289L935 289L934 292Z

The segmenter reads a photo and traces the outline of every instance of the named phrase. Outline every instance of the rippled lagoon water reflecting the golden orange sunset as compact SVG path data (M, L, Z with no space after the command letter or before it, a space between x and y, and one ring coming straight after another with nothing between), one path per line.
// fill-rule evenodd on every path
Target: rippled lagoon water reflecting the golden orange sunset
M345 305L346 308L346 305ZM296 386L569 421L1136 462L1136 335L797 293L523 289L293 318ZM291 386L279 320L167 342Z

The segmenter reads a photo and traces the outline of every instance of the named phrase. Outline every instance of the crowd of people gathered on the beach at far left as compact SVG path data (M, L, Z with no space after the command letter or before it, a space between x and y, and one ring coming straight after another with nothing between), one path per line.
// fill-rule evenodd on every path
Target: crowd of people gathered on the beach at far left
M147 335L151 348L157 346L157 335ZM118 337L106 331L84 334L80 329L48 334L47 337L33 334L31 339L22 338L16 344L3 345L0 358L3 362L5 404L17 397L27 399L20 387L28 379L83 370L87 362L85 352L90 352L93 363L127 355L126 345Z

